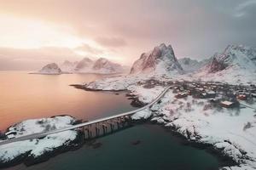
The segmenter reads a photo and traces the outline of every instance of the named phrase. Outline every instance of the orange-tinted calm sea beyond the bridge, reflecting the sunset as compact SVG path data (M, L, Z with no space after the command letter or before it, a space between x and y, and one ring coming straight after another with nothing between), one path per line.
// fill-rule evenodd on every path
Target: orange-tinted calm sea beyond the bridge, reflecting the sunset
M107 76L0 71L0 129L29 118L68 114L92 120L134 109L125 93L86 92L69 86L102 77Z

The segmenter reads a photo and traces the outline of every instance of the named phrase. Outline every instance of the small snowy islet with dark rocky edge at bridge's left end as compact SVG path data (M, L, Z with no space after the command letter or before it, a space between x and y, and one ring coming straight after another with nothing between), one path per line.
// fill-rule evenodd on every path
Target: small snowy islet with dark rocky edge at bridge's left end
M15 138L32 133L42 133L56 128L68 127L77 123L72 116L51 116L29 119L15 123L6 132L7 137ZM42 139L24 140L0 145L0 168L13 167L20 163L31 166L63 152L76 150L83 144L83 134L79 130L47 135Z

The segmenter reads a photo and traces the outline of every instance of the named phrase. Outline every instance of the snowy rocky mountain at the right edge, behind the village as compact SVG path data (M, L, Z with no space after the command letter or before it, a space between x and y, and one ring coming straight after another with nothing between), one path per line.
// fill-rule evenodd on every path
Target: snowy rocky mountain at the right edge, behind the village
M256 82L256 48L230 45L195 74L206 81Z

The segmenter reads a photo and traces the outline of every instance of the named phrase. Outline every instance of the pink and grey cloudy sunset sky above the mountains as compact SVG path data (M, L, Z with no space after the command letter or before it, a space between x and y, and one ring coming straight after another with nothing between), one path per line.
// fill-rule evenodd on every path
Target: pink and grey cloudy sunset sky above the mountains
M0 70L84 57L132 65L162 42L206 59L256 46L255 18L256 0L0 0Z

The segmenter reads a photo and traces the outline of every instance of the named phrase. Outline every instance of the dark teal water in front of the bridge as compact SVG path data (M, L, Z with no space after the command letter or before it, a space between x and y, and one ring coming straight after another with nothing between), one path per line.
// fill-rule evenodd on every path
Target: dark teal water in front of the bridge
M132 144L137 140L141 143ZM137 125L97 142L102 143L100 148L84 145L44 163L9 170L213 170L219 166L216 157L181 144L180 139L158 125Z

